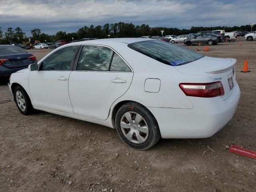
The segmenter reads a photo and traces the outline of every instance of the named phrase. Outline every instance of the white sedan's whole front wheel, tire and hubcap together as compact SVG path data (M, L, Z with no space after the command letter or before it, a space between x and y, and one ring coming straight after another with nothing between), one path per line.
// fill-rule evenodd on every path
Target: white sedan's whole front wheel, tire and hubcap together
M31 114L33 111L33 107L26 91L18 85L14 88L13 94L14 101L20 112L24 115Z

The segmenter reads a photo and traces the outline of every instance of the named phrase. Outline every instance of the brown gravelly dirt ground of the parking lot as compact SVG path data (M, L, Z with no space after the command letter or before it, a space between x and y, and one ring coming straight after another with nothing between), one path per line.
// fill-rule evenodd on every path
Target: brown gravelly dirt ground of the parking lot
M207 56L237 59L238 110L214 136L161 139L138 151L114 129L46 112L24 116L14 102L5 102L0 104L0 192L255 192L256 159L225 146L256 150L256 41L200 49ZM31 52L40 59L50 50ZM240 72L244 59L250 73ZM0 85L0 96L12 100L7 85Z

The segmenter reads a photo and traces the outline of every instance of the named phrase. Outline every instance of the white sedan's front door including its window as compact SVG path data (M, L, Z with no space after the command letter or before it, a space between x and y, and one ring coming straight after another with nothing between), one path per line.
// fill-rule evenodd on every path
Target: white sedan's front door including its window
M32 104L43 108L73 113L68 95L68 79L79 46L62 48L42 63L28 77Z

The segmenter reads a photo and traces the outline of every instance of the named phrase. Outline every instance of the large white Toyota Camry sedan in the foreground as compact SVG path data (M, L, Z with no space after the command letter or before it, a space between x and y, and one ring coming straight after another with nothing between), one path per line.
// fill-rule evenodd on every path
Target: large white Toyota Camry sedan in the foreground
M148 38L60 46L13 73L10 90L33 109L116 128L130 147L162 138L207 138L236 112L235 59L202 56Z

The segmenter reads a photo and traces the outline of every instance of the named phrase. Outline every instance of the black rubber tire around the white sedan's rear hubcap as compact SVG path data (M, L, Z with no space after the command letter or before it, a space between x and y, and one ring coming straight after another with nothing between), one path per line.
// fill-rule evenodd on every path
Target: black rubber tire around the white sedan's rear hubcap
M144 118L144 120L146 121L146 124L148 126L148 136L147 136L147 138L144 142L134 143L134 142L128 140L126 138L126 136L124 135L124 133L123 133L124 129L123 129L123 131L121 129L121 120L122 120L123 115L126 112L129 112L129 113L135 112L135 113L141 115L142 118ZM136 115L136 114L134 114L134 115ZM135 119L133 119L135 117L131 116L132 120L135 120ZM140 122L143 123L144 120L142 120ZM154 118L153 114L146 107L144 107L141 104L136 103L136 102L128 102L128 103L122 105L118 109L118 111L116 113L115 124L116 124L116 130L118 132L118 135L123 140L123 142L126 145L130 146L131 148L135 148L135 149L138 149L138 150L146 150L146 149L149 149L152 146L154 146L158 142L158 140L161 138L158 123L157 123L156 119ZM132 131L132 128L130 128L130 131L129 131L129 128L128 128L127 131L128 132ZM144 134L144 133L140 132L140 134ZM136 137L135 132L133 132L132 135L133 135L132 140L134 140L134 137Z

